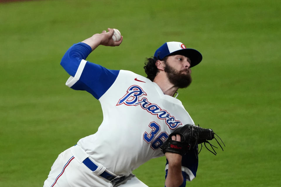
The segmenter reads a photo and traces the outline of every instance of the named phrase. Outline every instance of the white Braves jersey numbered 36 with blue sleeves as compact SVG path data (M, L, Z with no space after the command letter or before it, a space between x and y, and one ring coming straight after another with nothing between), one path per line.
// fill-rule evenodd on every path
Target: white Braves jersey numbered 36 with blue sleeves
M66 85L91 93L103 111L98 131L77 144L110 172L129 175L148 160L164 156L160 145L165 138L177 127L194 122L181 101L165 95L156 83L84 60L90 52L90 46L78 43L61 61L71 75ZM195 177L197 166L198 160L191 154L183 157L188 180Z

